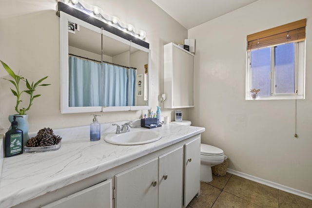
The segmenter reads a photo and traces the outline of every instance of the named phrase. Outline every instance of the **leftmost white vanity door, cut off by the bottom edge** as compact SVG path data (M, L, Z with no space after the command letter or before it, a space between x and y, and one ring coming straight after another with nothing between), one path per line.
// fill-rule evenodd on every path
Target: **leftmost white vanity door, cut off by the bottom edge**
M42 208L112 208L112 179L78 191Z

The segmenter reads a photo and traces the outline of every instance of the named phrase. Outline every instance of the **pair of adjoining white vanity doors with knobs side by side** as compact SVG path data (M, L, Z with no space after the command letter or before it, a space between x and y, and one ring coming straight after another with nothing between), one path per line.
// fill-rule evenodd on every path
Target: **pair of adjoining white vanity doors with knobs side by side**
M181 208L183 147L115 176L116 208Z

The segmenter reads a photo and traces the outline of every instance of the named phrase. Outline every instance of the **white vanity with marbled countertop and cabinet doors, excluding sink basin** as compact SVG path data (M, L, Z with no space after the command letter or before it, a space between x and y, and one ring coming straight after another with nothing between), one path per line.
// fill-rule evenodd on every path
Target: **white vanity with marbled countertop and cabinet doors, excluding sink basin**
M130 146L104 141L111 124L101 129L96 142L88 126L54 130L63 138L58 151L4 158L0 208L183 208L199 194L204 128L163 125L148 130L161 139Z

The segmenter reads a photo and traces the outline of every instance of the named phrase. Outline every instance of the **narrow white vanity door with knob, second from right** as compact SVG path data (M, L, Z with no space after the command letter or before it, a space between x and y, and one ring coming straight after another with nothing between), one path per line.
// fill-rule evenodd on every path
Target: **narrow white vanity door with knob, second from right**
M182 207L183 147L159 156L159 208Z

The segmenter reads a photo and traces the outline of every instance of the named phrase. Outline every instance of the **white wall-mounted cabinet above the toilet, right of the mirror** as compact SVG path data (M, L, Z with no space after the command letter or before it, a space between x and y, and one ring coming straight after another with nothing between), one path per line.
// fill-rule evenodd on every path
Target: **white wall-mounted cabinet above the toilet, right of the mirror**
M194 58L175 43L164 46L164 108L194 107Z

